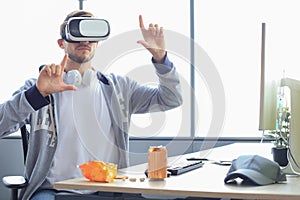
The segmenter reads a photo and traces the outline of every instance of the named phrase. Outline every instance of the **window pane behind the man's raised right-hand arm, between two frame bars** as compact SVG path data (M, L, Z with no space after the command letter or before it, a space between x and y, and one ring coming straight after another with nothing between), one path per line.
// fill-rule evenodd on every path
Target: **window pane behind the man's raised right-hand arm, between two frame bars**
M189 52L178 52L182 49L180 42L189 42L189 2L180 0L153 1L109 1L105 5L98 1L86 1L84 7L91 10L97 17L110 22L110 39L104 47L95 65L109 55L113 59L105 65L104 72L113 72L129 76L141 84L155 85L157 77L151 64L151 55L136 41L142 36L139 30L138 16L142 15L145 27L149 23L163 26L166 34L166 48L170 60L176 66L182 83L189 86ZM176 41L182 36L184 41ZM116 42L120 41L120 42ZM110 48L112 47L112 48ZM185 47L189 50L189 46ZM99 50L101 49L101 44ZM119 51L118 51L119 49ZM120 50L124 49L124 50ZM187 57L188 56L188 57ZM101 65L101 64L100 64ZM184 105L165 113L137 114L132 116L130 135L135 137L181 137L190 136L190 102L189 91L184 91Z

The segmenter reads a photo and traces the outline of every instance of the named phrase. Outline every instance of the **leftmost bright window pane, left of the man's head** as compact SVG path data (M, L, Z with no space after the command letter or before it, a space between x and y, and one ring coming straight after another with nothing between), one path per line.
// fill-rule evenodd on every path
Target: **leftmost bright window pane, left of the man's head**
M1 17L2 66L0 102L10 98L26 79L37 77L42 64L59 63L63 52L56 40L67 13L77 9L74 0L13 0Z

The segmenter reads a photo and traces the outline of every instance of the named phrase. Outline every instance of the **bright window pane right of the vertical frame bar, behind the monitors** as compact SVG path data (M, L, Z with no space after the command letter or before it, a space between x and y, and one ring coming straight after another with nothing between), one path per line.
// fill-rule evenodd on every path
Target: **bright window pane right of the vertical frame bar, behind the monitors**
M266 23L266 68L278 79L283 71L285 76L299 79L297 5L296 0L195 1L196 42L213 61L225 91L225 98L220 99L226 102L220 136L261 136L258 122L263 22ZM207 98L209 95L203 93L206 85L202 81L196 79L199 126L209 123L207 115L212 118L214 108L211 98ZM209 135L208 127L201 126L197 135Z

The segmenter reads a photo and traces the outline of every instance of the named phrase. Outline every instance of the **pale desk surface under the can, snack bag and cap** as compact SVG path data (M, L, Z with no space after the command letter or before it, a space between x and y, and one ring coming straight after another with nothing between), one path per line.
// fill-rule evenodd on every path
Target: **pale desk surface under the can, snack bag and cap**
M270 144L238 143L211 150L169 158L185 159L187 157L205 156L213 160L232 160L239 155L259 154L271 157ZM57 182L57 189L99 190L108 192L129 192L155 195L213 197L213 198L247 198L247 199L300 199L300 177L288 176L286 183L267 186L245 186L224 184L229 166L220 166L206 162L202 168L172 176L164 180L140 182L145 177L146 164L120 169L118 174L137 178L136 182L116 180L114 183L90 182L85 178Z

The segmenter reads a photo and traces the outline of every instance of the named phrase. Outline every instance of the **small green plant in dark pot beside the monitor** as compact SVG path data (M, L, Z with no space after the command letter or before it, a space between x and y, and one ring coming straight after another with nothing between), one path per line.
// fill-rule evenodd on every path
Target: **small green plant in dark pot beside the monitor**
M280 110L281 112L277 113L277 130L269 131L264 137L273 141L273 160L284 167L288 164L287 151L289 147L291 113L289 107L282 107Z

